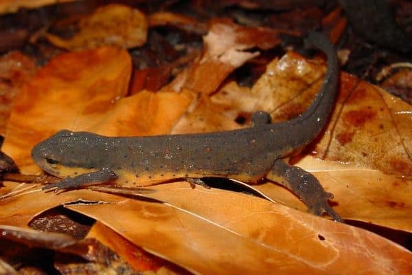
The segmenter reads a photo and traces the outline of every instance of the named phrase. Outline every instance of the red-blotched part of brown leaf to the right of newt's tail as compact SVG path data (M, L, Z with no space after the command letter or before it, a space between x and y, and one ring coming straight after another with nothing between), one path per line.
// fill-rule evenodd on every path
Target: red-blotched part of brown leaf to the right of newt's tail
M411 105L348 74L325 136L323 159L412 177Z

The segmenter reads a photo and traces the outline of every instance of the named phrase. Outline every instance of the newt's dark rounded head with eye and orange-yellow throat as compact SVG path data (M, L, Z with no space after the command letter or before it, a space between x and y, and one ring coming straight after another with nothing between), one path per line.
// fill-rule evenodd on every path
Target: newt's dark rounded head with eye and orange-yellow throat
M61 130L36 144L32 159L47 173L57 177L77 175L84 170L95 170L92 159L96 159L95 144L102 136L87 132Z

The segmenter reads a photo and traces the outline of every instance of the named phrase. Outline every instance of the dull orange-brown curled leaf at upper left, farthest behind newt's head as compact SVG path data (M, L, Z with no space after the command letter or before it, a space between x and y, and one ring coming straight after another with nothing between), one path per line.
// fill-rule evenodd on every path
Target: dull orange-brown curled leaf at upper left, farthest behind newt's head
M112 45L123 48L138 47L146 42L148 24L137 9L126 5L104 5L78 23L80 31L71 39L45 34L50 43L67 50L85 50Z

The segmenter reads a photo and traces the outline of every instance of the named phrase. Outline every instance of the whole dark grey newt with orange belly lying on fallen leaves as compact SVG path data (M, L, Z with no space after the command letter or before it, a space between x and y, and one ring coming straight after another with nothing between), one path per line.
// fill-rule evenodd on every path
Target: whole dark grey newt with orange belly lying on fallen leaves
M32 149L34 162L47 173L63 178L44 189L65 190L115 182L149 186L170 179L225 177L255 184L275 181L295 193L308 212L339 214L329 206L333 195L318 179L287 163L291 153L304 148L322 131L334 107L338 60L334 45L323 34L312 33L306 43L325 52L328 69L321 90L297 118L271 123L264 111L252 115L252 126L214 133L106 137L89 132L58 131Z

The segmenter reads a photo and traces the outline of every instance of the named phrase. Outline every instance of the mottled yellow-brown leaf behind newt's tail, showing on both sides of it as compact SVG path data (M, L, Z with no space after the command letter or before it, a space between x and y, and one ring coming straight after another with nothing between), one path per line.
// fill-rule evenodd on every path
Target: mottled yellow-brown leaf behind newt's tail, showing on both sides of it
M259 98L255 109L270 112L275 121L295 118L319 91L324 69L296 54L273 61L251 89ZM315 152L322 159L411 177L411 109L343 72L338 102Z

